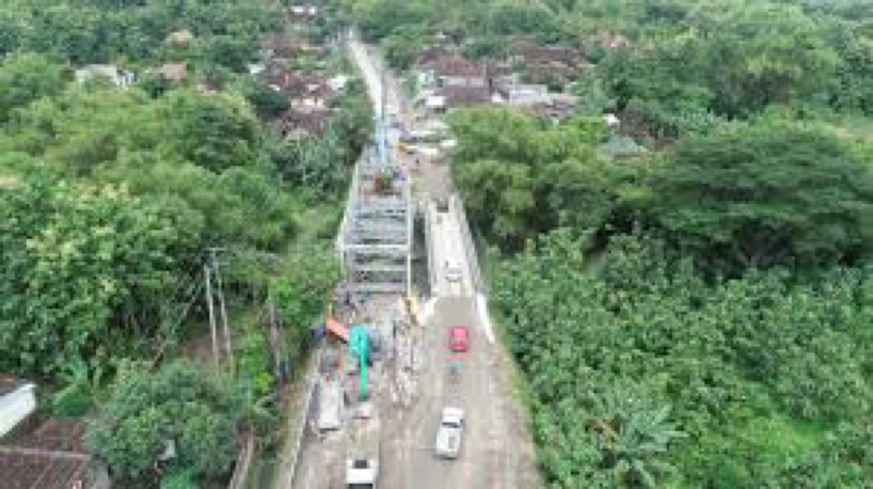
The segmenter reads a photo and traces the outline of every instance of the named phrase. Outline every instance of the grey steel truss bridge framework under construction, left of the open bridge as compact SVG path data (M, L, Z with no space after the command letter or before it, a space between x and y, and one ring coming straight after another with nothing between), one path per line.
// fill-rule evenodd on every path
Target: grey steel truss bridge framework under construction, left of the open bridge
M409 293L410 193L409 176L392 157L380 119L375 144L364 151L355 167L337 238L346 290L351 295Z

